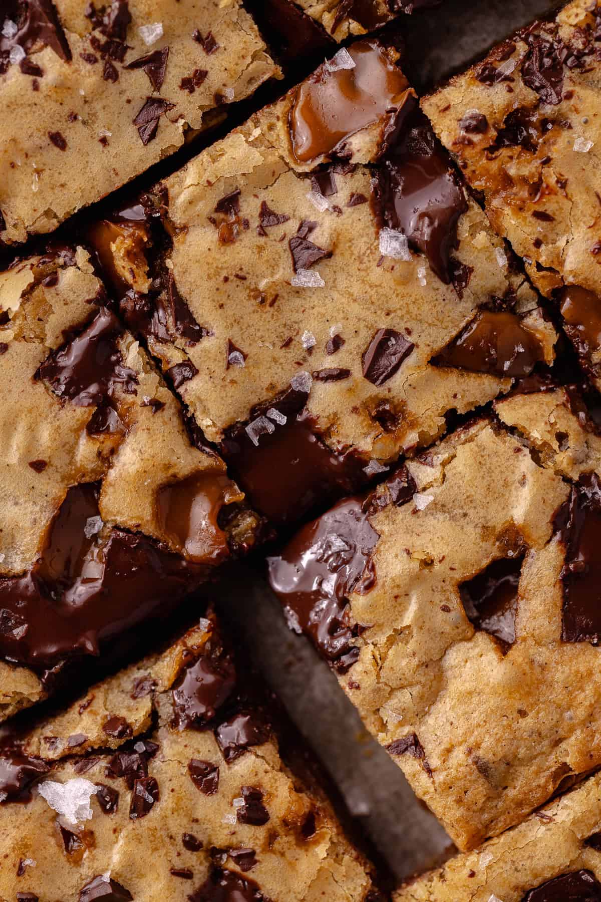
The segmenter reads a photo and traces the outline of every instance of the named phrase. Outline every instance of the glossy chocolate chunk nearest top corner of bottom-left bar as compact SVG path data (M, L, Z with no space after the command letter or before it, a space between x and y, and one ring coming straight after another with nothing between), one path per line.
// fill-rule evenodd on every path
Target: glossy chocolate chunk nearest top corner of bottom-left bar
M236 685L232 658L226 654L197 658L187 665L173 688L178 730L204 727L225 704Z

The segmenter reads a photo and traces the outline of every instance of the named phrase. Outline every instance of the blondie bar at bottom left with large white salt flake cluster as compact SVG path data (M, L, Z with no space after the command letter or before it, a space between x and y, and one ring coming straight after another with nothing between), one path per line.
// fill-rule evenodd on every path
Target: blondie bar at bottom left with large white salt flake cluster
M280 758L278 728L249 677L214 619L201 620L26 733L21 754L46 769L21 804L0 805L3 902L17 890L43 902L88 898L82 890L102 875L117 884L114 898L144 902L366 899L366 862L317 785ZM245 727L224 746L236 719ZM0 762L11 754L0 750ZM77 823L46 801L49 783L56 797L74 779L87 781ZM220 895L220 880L231 895Z

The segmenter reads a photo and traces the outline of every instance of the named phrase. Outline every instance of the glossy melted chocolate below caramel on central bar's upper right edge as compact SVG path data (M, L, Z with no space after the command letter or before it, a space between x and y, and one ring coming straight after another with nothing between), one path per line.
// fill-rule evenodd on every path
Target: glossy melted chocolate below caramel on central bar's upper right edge
M388 137L378 165L374 206L379 221L407 236L425 253L433 272L451 281L450 256L457 244L457 223L468 209L448 154L409 97Z

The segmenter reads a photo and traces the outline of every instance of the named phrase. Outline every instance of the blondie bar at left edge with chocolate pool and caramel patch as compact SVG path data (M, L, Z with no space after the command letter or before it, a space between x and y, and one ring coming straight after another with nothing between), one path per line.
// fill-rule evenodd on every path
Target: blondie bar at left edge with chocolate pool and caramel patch
M161 574L177 576L166 589L175 601L230 556L237 538L251 542L257 525L223 462L192 444L178 400L105 300L82 248L0 273L0 642L3 659L34 671L2 663L3 718L45 695L45 668L70 650L97 654L101 634L114 640L150 614ZM84 341L97 324L104 335ZM103 387L107 360L115 381ZM53 376L56 361L64 367ZM189 520L178 523L182 491L200 507L188 502ZM226 505L241 513L222 528ZM119 564L111 562L115 542L125 555ZM111 574L127 559L131 572L120 579L131 578L131 588L117 602ZM150 567L157 597L145 608L151 586L136 580ZM87 594L94 584L96 601ZM69 631L63 603L89 612L84 632Z

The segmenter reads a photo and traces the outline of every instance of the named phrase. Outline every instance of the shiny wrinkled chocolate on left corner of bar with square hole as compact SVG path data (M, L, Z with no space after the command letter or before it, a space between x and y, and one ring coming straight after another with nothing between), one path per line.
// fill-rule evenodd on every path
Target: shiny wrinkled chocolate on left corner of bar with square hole
M360 499L336 504L308 523L278 557L269 557L269 582L296 632L306 632L332 667L344 673L359 657L349 617L352 592L376 582L378 544Z

